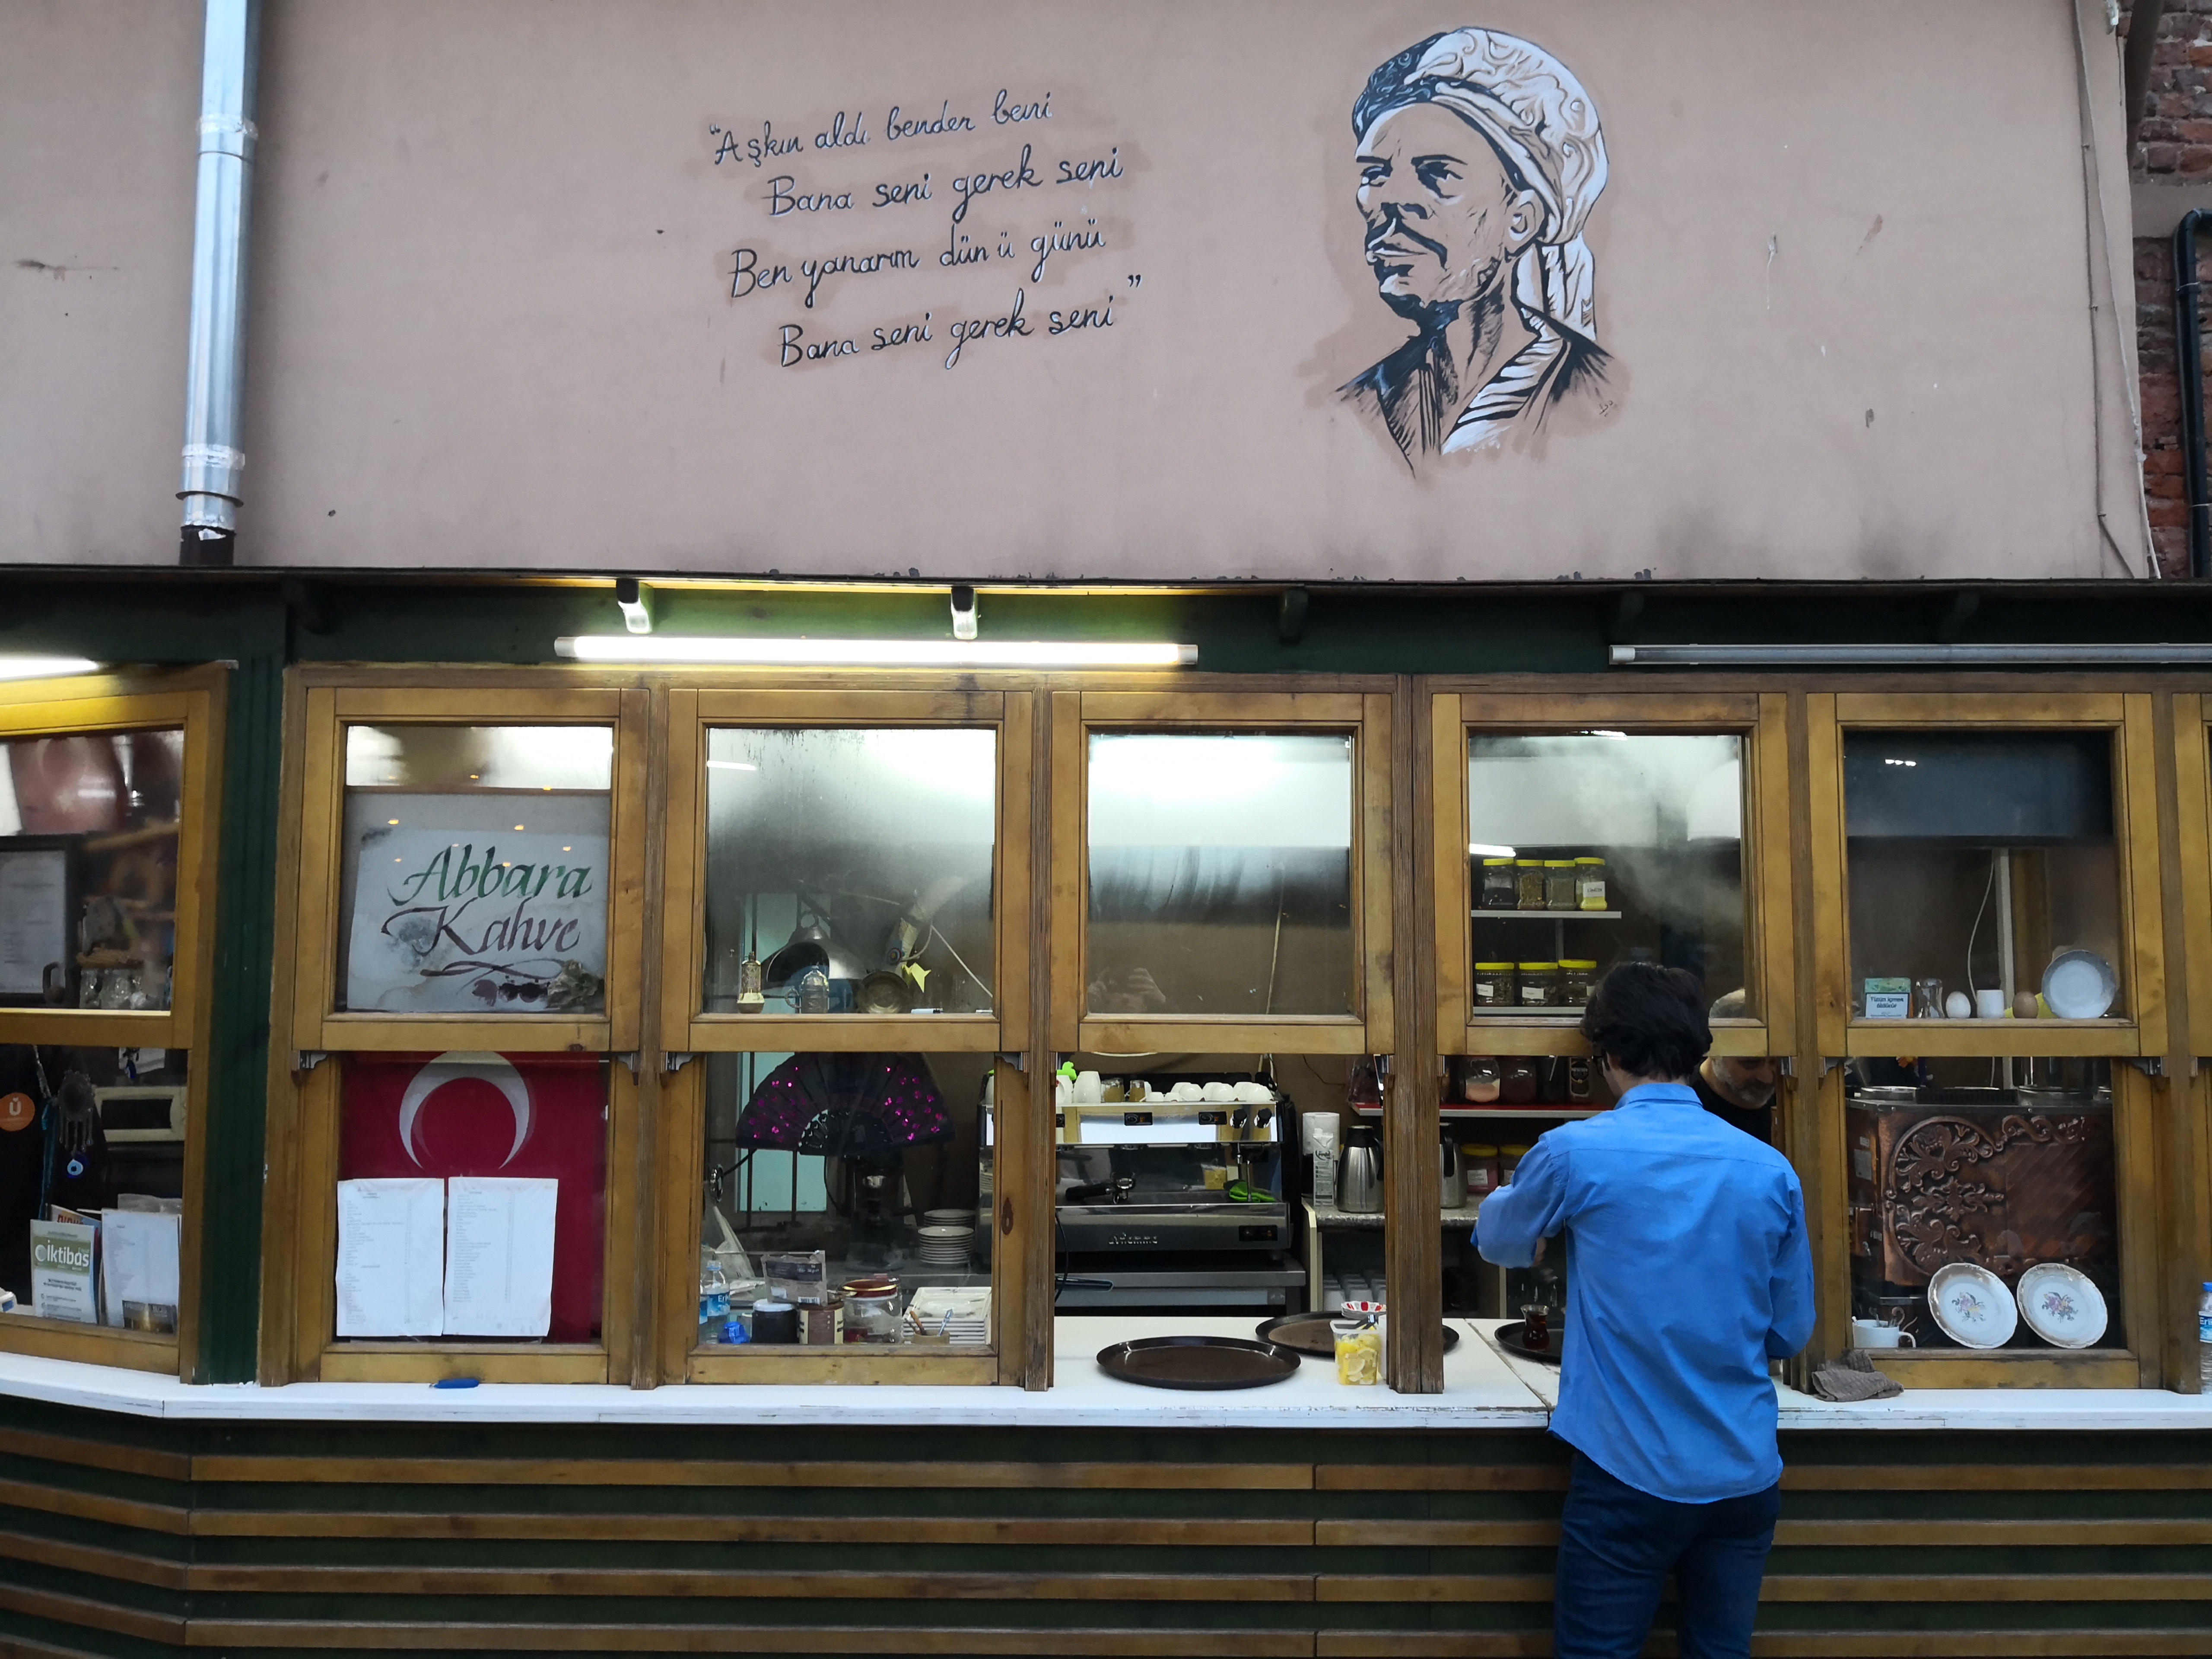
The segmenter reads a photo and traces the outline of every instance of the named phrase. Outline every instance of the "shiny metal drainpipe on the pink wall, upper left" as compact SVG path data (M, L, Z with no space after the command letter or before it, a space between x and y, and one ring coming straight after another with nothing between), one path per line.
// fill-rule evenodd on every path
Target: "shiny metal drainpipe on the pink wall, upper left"
M246 230L254 181L261 0L206 0L199 71L199 199L192 334L184 372L179 564L230 564L239 535L246 418Z

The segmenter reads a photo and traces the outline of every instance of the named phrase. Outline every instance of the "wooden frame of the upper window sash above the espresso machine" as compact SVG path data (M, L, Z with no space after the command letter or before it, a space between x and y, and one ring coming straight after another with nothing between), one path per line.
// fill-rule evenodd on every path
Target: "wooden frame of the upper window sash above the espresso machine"
M1396 1051L1391 984L1391 695L1376 690L1135 690L1051 692L1051 1046L1057 1053ZM1352 960L1358 1009L1347 1015L1133 1013L1086 1006L1091 960L1091 737L1126 732L1254 732L1352 737ZM1431 1183L1433 1186L1433 1183Z

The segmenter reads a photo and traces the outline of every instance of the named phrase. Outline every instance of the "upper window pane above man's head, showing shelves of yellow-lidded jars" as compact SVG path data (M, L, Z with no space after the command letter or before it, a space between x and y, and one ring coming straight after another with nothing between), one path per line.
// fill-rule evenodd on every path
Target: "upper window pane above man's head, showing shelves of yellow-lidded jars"
M1743 945L1743 739L1467 739L1473 1013L1577 1011L1615 962L1756 1018ZM1564 1086L1564 1084L1562 1084Z

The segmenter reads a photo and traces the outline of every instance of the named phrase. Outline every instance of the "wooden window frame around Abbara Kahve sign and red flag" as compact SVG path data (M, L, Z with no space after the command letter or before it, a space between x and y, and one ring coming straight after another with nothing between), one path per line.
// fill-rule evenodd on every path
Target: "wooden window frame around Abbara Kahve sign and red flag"
M265 1383L628 1383L635 1376L639 1234L657 1079L641 1064L650 987L646 863L653 801L650 690L622 670L369 670L285 675L270 1042L270 1175L263 1225L261 1376ZM341 1013L341 860L347 726L608 726L606 1009L599 1015ZM347 1055L593 1053L606 1062L606 1234L597 1343L338 1340L338 1095Z

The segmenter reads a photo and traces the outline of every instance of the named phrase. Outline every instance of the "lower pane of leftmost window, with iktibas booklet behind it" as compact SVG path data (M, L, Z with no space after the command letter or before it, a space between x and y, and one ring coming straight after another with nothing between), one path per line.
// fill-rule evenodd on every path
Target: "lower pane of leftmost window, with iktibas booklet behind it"
M20 1312L175 1336L188 1060L0 1044L0 1285Z

